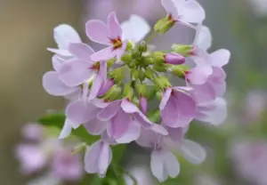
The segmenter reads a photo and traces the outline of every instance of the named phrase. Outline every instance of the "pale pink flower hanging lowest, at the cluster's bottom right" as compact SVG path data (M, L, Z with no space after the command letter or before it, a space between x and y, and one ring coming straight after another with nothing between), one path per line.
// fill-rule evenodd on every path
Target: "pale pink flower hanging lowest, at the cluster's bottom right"
M160 182L166 181L168 176L175 178L180 173L180 164L170 151L172 148L179 149L183 157L192 164L200 164L206 158L206 151L200 145L193 141L183 140L185 132L182 128L168 128L168 131L172 131L169 137L152 130L142 130L136 141L142 147L153 149L150 168L152 174Z

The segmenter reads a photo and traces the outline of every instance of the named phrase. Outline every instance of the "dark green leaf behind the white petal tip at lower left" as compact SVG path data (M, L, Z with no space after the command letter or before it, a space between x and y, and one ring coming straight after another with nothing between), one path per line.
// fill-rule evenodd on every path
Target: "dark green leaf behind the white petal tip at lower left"
M62 129L65 119L66 117L64 114L53 113L39 118L38 123L45 126L55 126ZM71 134L77 136L77 138L87 142L88 144L92 144L94 141L98 141L100 139L100 136L93 136L88 133L83 125L77 129L73 129Z

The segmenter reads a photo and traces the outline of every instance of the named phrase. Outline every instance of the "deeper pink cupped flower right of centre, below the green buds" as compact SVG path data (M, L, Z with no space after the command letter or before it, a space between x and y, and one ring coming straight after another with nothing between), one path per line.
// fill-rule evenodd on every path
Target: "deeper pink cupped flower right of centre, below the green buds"
M196 102L191 97L189 87L166 88L159 105L164 125L184 127L196 116Z

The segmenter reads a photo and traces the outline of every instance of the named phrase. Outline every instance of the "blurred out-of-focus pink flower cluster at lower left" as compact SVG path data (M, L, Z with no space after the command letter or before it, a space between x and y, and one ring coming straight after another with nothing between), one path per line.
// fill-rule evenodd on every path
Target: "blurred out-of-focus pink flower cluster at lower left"
M84 170L81 158L73 155L72 148L77 141L62 143L56 137L46 134L42 125L28 124L22 129L25 142L17 146L15 153L24 174L38 173L49 167L45 181L79 181ZM36 183L33 183L36 184ZM39 184L39 183L38 183Z

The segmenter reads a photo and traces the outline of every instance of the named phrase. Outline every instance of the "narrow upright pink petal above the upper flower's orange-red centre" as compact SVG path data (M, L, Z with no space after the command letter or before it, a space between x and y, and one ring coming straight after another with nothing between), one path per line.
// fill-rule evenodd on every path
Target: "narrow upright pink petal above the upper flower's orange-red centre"
M108 17L108 27L111 38L121 38L122 28L117 21L117 15L115 12L110 12Z

